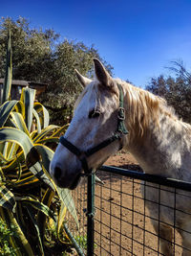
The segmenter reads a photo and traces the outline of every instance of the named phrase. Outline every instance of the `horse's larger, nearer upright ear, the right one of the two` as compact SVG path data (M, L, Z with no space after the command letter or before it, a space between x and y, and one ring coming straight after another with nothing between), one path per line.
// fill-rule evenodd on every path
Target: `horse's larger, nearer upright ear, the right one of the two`
M96 73L97 80L100 81L100 83L103 85L113 86L114 83L113 83L112 77L106 71L103 64L97 58L94 58L94 62L95 62L95 73Z

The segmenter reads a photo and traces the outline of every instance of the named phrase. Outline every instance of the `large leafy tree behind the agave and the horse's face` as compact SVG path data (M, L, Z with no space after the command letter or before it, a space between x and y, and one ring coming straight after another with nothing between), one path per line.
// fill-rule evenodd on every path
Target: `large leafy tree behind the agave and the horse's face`
M64 118L68 108L74 105L82 90L75 78L74 68L82 75L93 76L93 58L99 58L109 73L113 67L100 58L94 45L60 40L53 30L32 29L27 19L16 21L2 18L0 27L0 77L5 74L6 42L8 30L12 37L12 77L15 80L42 81L48 83L40 101L51 110L51 120ZM59 125L62 122L58 122Z

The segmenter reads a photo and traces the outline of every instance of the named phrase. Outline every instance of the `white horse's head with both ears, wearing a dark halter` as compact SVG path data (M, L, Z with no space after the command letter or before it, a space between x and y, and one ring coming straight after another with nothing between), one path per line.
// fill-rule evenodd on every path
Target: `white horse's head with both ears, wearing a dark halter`
M102 165L123 146L125 140L125 132L117 130L119 123L123 125L122 118L118 117L120 91L117 82L97 59L94 62L96 80L86 79L76 72L85 88L51 163L51 175L63 188L74 189L84 169L93 170Z

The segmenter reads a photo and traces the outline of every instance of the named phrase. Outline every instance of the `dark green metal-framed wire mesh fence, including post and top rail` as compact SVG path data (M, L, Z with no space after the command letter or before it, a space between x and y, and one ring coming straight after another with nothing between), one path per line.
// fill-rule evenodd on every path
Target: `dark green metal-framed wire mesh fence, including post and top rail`
M177 202L181 198L191 203L190 183L109 166L102 166L96 175L104 184L96 183L95 175L90 175L88 182L74 191L79 228L72 220L68 225L79 255L162 255L159 236L173 247L174 255L181 254L180 233L188 230L179 230L176 216L191 213L180 209ZM155 216L149 213L147 204L155 208ZM167 209L174 221L163 221L161 209ZM172 230L172 244L166 235L157 235L151 222Z

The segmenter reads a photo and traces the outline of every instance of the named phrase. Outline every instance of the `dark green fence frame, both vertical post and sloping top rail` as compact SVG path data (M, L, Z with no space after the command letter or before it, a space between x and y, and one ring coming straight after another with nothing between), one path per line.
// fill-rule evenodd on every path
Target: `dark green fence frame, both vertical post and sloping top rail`
M159 185L173 187L175 189L181 189L184 191L191 192L191 182L181 181L179 179L164 177L160 175L147 175L144 173L140 173L138 171L131 171L128 169L121 169L112 166L102 166L98 170L103 172L108 172L117 175L124 175L132 178L136 178L139 180L144 180L152 183L156 183ZM87 218L88 218L88 226L87 226L87 256L94 255L94 227L95 227L95 173L88 176L88 198L87 198Z

